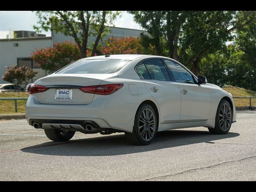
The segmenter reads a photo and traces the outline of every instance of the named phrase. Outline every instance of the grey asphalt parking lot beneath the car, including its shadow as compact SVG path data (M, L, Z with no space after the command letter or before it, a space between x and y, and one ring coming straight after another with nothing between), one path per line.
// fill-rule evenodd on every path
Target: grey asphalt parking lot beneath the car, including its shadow
M237 112L226 135L207 128L159 132L149 146L124 134L76 133L51 142L26 120L0 121L0 181L256 180L256 112Z

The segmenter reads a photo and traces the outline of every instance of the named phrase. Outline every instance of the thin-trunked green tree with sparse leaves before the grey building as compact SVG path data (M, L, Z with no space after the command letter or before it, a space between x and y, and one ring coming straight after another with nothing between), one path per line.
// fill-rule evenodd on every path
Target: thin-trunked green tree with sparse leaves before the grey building
M106 35L108 27L120 14L116 11L36 11L38 25L34 26L37 32L53 30L66 36L72 36L76 42L81 57L87 57L88 38L96 37L93 43L92 55L96 54L96 48L100 39Z

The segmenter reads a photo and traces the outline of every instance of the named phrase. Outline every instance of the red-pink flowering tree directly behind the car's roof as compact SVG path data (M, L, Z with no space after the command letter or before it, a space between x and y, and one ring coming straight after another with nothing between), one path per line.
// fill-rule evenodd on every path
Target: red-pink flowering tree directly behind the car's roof
M105 41L106 46L99 46L98 51L102 54L152 54L152 51L145 50L140 43L140 39L136 37L108 38Z

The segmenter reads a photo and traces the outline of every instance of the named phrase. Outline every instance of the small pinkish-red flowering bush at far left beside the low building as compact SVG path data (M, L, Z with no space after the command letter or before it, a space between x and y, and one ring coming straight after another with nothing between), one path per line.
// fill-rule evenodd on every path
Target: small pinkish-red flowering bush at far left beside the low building
M2 79L4 81L16 84L17 86L21 86L24 84L24 88L27 86L28 81L31 80L34 76L36 76L37 71L33 71L31 68L26 66L12 66L8 67Z

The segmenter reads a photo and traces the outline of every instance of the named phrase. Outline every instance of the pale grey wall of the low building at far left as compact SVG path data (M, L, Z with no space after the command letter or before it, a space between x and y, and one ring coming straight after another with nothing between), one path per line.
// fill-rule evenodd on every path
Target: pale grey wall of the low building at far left
M14 47L14 43L18 43ZM17 58L30 57L36 48L46 48L52 46L52 37L35 37L35 38L19 38L19 39L1 39L0 40L0 83L7 83L2 80L2 75L6 71L6 66L17 65ZM38 70L38 74L34 79L45 76L45 71Z

